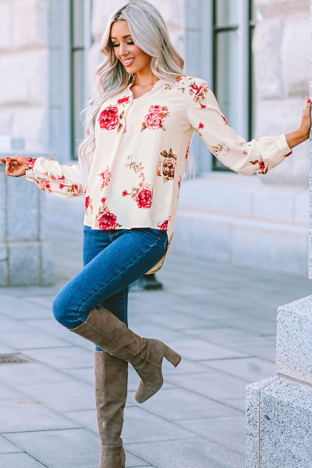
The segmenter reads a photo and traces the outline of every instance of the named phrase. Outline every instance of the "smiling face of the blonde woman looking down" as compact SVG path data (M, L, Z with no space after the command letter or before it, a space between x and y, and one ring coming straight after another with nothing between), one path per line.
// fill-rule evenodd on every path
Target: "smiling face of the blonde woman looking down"
M110 38L117 59L125 66L128 73L150 70L151 57L133 43L126 20L120 20L112 24Z

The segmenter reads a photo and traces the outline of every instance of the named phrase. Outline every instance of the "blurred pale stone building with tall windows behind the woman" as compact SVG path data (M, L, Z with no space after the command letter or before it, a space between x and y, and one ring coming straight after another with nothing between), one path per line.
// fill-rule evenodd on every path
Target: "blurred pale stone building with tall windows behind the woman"
M311 65L309 0L151 0L189 75L206 80L245 139L297 129ZM92 94L105 0L0 1L0 152L74 164ZM172 250L306 275L308 143L260 177L229 172L195 135L196 178L182 184ZM196 210L194 213L194 202ZM47 197L48 223L81 230L83 197Z

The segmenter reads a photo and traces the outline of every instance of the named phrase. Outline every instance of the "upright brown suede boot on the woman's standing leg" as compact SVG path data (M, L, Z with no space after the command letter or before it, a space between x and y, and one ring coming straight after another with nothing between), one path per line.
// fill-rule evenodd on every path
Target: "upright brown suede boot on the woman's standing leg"
M124 468L121 431L127 399L128 363L106 351L94 351L96 416L101 437L99 468Z

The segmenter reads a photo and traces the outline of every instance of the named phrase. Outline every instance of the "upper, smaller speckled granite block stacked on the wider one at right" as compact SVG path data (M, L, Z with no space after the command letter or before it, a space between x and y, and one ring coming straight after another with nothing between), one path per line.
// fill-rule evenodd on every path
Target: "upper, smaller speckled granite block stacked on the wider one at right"
M277 310L276 371L312 384L311 356L312 296L307 296Z

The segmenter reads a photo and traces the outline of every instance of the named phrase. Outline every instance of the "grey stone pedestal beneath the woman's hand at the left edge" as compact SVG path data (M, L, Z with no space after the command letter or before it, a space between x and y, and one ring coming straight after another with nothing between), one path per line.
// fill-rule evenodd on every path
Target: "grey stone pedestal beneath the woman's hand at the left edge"
M51 249L44 241L43 191L25 177L7 177L0 164L0 200L0 286L53 284Z

